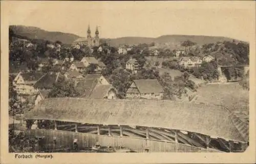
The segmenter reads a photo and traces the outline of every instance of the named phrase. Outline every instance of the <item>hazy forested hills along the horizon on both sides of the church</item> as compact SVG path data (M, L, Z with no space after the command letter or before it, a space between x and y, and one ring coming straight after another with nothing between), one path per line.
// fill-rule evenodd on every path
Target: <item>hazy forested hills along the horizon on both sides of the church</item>
M70 33L62 32L50 32L42 30L37 27L29 26L10 26L10 29L16 34L30 39L44 39L49 41L61 41L64 44L71 44L80 36ZM186 40L196 42L197 44L209 44L215 42L232 41L232 38L217 37L217 36L193 36L193 35L163 35L157 38L150 37L120 37L101 40L109 40L112 46L118 46L120 44L139 44L139 43L152 43L155 42L158 48L169 48L174 49L180 46L180 44Z

